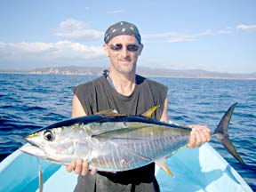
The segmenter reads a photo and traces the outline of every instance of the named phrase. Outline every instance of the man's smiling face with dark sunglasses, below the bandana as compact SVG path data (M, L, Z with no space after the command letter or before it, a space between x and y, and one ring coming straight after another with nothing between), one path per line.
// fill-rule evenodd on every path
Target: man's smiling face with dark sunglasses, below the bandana
M110 59L110 68L128 75L135 73L136 63L143 45L134 36L115 36L104 50Z

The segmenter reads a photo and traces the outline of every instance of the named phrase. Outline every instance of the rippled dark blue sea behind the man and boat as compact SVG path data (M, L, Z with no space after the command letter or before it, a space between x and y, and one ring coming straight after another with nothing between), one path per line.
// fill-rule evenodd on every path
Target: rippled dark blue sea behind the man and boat
M71 116L71 89L98 76L0 74L0 160L23 137ZM237 102L229 136L247 165L236 162L214 137L210 142L256 191L256 81L148 77L169 87L168 114L178 124L207 124L212 131Z

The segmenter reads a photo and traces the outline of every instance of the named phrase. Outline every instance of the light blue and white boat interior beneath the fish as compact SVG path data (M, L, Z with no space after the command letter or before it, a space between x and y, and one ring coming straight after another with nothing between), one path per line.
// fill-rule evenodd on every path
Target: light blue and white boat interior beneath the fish
M66 172L66 166L52 164L35 156L14 151L0 164L0 192L39 191L38 170L44 175L44 192L69 192L76 186L77 175ZM200 148L182 148L166 160L166 164L174 173L167 175L156 166L156 179L161 191L252 191L252 188L212 148L204 143Z

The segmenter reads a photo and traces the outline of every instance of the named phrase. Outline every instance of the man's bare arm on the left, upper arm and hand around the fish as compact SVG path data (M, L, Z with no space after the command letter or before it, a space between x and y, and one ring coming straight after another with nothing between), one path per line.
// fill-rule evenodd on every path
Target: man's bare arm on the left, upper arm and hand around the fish
M72 108L72 117L78 117L78 116L86 116L84 112L84 108L76 97L76 95L73 98L73 108ZM87 174L89 171L89 164L87 162L84 162L82 159L77 160L76 162L71 162L66 166L67 172L76 172L76 174L82 174L83 176ZM92 174L95 174L97 172L96 169L92 169Z

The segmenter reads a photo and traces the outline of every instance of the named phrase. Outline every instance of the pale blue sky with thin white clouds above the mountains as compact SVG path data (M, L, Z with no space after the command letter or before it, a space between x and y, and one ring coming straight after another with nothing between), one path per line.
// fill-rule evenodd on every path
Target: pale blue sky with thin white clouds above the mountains
M106 29L140 30L148 68L256 72L255 0L1 0L0 70L108 68Z

